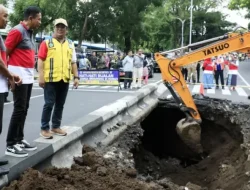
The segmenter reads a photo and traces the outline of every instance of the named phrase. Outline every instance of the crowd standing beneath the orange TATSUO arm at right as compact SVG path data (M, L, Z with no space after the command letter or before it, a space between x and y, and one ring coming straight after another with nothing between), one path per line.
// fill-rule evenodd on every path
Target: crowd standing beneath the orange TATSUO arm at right
M247 57L241 53L219 55L182 68L182 74L188 83L200 83L202 69L204 89L212 89L214 86L216 89L220 86L225 89L225 86L228 86L230 90L235 90L239 61L243 59Z

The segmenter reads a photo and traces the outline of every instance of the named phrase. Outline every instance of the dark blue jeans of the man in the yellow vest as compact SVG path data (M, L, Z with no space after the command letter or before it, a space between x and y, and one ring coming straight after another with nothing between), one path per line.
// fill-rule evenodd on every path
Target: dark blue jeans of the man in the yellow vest
M51 112L54 108L54 112L52 115L52 128L59 128L61 126L62 114L64 103L67 98L69 90L69 83L65 83L64 81L60 82L47 82L44 86L44 101L45 104L43 106L42 113L42 130L50 129L50 118Z

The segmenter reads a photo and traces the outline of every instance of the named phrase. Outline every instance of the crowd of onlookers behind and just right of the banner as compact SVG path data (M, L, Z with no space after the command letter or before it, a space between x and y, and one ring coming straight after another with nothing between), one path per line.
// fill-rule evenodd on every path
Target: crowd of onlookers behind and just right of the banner
M133 51L128 51L127 55L123 53L100 53L97 55L95 51L88 55L79 49L77 65L78 70L118 69L122 67L125 73L122 76L125 90L141 88L142 83L148 83L148 61L142 49L139 49L136 54L133 54Z

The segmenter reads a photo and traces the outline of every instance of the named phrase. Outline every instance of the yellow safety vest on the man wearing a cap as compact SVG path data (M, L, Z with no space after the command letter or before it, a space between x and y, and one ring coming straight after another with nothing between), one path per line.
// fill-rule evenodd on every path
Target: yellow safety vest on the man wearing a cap
M72 41L67 39L61 44L56 39L51 38L46 40L46 45L48 52L44 61L45 82L58 82L61 80L69 82L73 54Z

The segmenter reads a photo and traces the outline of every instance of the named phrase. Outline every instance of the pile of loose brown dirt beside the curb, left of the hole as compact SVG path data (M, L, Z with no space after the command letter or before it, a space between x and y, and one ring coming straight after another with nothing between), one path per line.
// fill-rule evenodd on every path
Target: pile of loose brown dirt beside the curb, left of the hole
M140 128L137 128L141 131ZM137 135L129 130L127 137ZM132 131L132 132L131 132ZM134 139L135 139L134 138ZM127 141L126 146L132 146L133 141ZM124 142L123 142L123 145ZM109 150L109 151L107 151ZM118 151L109 147L107 152L83 146L82 157L74 158L71 168L48 168L43 172L28 169L21 178L13 181L3 190L161 190L163 186L154 182L144 182L136 179L137 171L129 167L133 162L131 153ZM124 157L127 154L128 157Z

